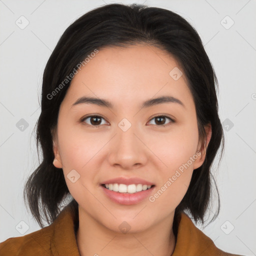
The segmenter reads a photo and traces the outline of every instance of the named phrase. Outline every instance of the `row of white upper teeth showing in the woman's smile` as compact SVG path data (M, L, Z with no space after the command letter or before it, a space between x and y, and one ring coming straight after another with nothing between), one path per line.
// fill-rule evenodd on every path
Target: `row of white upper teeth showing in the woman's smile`
M151 185L142 185L142 184L125 185L125 184L113 183L113 184L104 184L104 185L108 190L113 190L119 193L131 193L131 194L149 189L151 187Z

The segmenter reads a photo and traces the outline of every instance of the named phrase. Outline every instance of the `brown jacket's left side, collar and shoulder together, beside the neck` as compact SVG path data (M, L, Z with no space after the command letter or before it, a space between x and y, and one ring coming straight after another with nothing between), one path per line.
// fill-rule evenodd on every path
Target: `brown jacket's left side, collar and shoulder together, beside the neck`
M68 204L50 225L1 242L0 256L79 256L75 236L77 213L73 211L72 204Z

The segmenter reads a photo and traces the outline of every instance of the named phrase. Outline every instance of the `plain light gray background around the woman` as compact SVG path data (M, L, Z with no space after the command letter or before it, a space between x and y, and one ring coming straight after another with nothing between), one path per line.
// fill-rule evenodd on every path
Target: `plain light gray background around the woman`
M25 209L22 189L38 166L32 131L46 61L70 23L110 2L0 0L0 242L40 228ZM256 255L256 1L122 1L132 2L177 12L205 45L219 81L220 119L229 123L224 123L224 156L214 172L221 210L214 222L198 227L222 250ZM21 15L29 21L24 29L15 23L25 24ZM23 131L16 127L21 118L28 123ZM15 228L25 226L20 221L28 224L23 234Z

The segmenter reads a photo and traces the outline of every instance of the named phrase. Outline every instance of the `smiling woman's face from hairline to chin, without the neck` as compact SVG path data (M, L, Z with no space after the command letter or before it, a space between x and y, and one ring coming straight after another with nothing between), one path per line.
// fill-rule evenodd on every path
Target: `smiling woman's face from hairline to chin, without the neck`
M63 169L79 214L104 228L120 232L126 221L130 231L146 230L163 223L204 160L192 94L177 68L172 56L153 46L106 47L75 74L60 105L54 165ZM74 104L83 96L111 106ZM143 106L162 96L170 100ZM207 143L209 137L210 131ZM138 183L152 186L135 193L103 187L114 178L142 179L128 181L129 191Z

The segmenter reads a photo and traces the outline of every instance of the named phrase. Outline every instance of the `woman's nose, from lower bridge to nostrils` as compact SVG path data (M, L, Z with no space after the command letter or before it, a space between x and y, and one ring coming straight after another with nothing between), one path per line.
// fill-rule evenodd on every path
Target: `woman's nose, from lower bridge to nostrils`
M149 149L142 135L131 125L126 131L116 128L116 135L110 143L108 162L110 165L130 170L146 164Z

